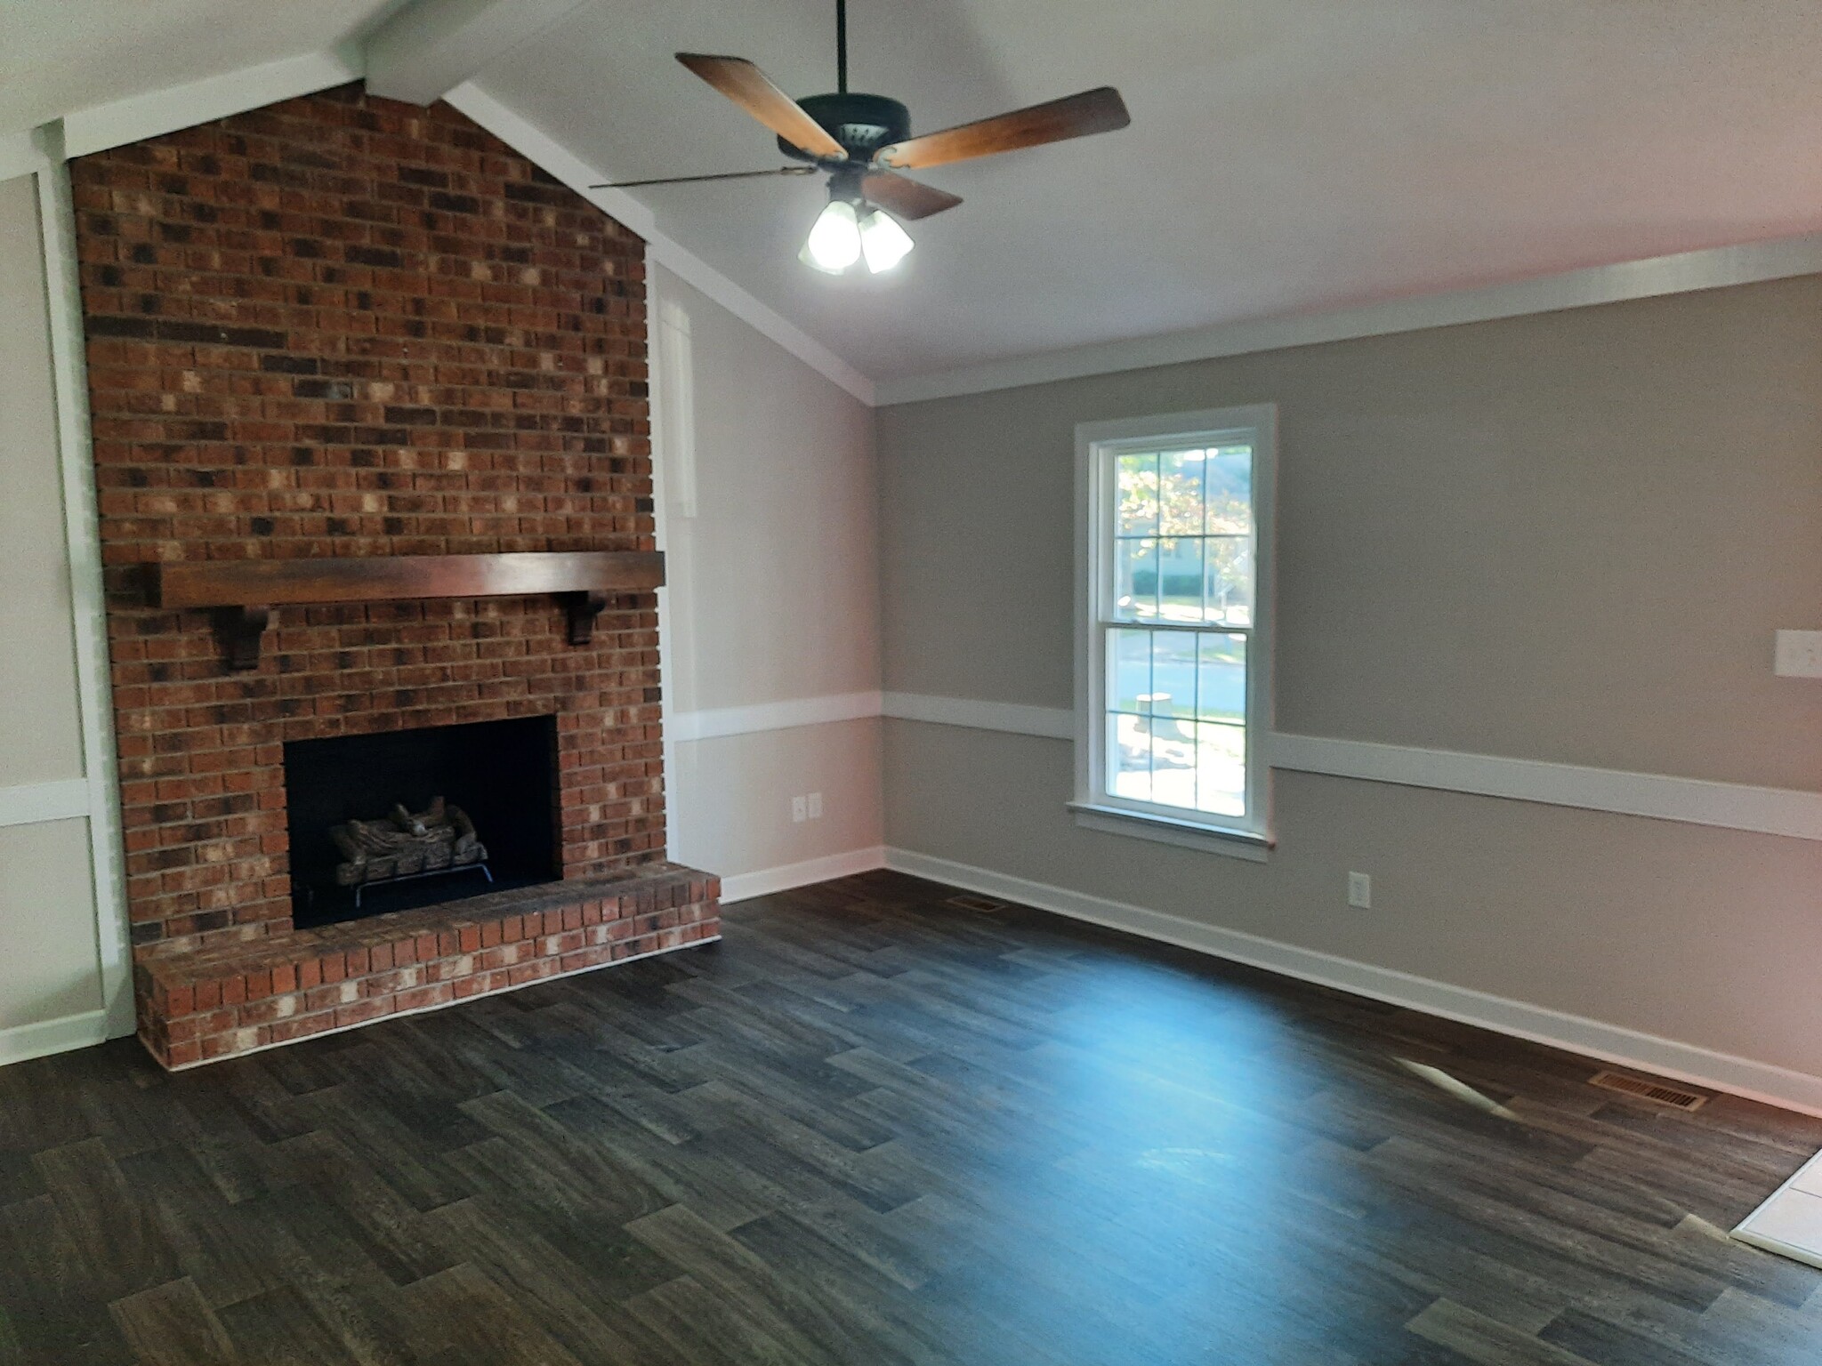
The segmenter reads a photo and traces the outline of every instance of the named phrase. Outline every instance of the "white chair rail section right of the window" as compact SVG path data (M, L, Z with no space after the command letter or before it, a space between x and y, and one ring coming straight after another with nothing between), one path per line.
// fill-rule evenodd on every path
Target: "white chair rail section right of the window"
M1268 745L1274 769L1822 840L1822 792L1372 745L1361 739L1274 734Z

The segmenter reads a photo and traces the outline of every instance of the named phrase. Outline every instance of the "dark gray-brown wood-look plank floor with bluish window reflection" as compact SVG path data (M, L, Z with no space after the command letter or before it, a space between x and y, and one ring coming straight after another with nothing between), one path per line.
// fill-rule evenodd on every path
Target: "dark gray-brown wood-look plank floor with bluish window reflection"
M180 1076L0 1069L0 1362L1822 1361L1822 1120L867 874Z

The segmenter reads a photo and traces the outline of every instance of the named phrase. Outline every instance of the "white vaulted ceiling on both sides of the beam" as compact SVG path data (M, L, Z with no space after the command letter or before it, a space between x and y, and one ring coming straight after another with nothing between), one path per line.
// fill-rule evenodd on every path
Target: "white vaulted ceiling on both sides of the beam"
M394 0L0 0L0 131L321 51ZM900 273L796 260L805 180L636 191L875 379L1822 229L1818 0L851 0L920 131L1090 86L1133 126L938 168ZM833 0L590 0L477 84L621 178L780 164L676 62L834 84Z

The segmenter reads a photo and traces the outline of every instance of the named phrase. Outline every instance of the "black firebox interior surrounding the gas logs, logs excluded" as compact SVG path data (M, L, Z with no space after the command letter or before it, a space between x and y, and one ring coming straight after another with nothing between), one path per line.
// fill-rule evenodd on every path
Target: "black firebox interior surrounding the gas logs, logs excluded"
M292 922L299 929L457 902L559 876L554 716L299 739L284 747L292 832ZM386 820L394 803L425 810L441 796L474 820L488 882L474 867L370 883L355 905L339 887L330 827Z

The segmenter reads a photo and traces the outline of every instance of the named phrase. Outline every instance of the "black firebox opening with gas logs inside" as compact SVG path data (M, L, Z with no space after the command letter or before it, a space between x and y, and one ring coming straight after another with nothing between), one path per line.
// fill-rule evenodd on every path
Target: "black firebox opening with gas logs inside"
M299 929L554 882L554 716L284 747Z

